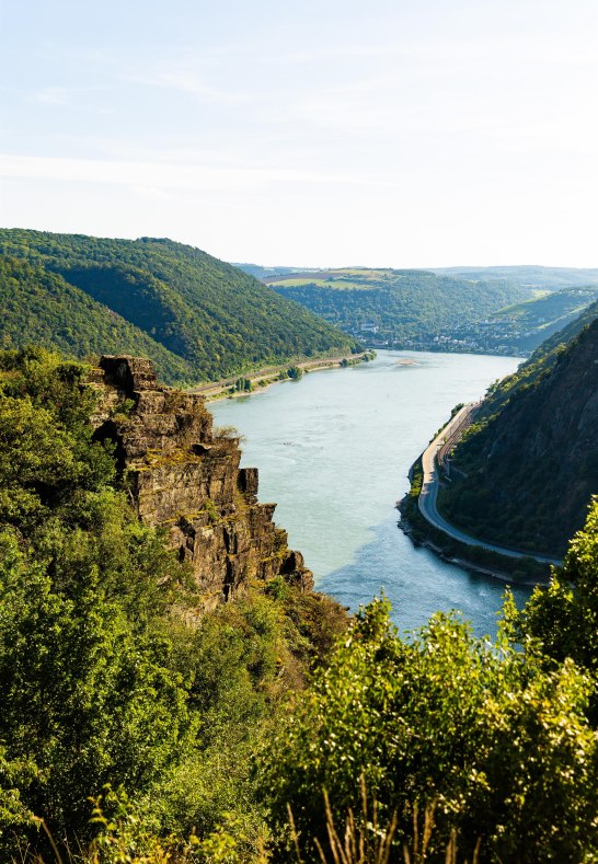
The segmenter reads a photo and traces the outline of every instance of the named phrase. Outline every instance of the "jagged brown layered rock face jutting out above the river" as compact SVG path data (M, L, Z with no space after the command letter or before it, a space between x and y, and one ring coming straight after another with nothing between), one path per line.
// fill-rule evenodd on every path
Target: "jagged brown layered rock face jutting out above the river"
M91 382L103 394L96 436L115 442L140 518L168 529L206 609L277 575L313 587L273 521L276 505L257 502L257 469L239 468L239 439L214 433L202 395L159 384L137 357L102 357Z

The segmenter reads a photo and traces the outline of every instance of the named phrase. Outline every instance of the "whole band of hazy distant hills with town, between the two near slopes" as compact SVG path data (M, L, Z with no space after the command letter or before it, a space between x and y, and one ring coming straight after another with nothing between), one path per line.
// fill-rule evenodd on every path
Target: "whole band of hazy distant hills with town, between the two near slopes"
M598 298L598 269L239 266L377 348L529 355Z

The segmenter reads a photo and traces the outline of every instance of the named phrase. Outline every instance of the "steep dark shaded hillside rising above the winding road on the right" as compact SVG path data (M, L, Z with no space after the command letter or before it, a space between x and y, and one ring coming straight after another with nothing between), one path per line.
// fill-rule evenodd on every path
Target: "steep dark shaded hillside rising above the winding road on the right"
M562 554L598 493L597 428L594 303L491 390L453 452L441 509L483 539Z

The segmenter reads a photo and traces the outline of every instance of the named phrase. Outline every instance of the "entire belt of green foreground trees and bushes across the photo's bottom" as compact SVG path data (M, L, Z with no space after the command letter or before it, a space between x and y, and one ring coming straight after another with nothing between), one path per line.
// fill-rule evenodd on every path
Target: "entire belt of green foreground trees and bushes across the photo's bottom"
M497 644L457 614L403 638L383 599L347 623L280 575L199 613L99 387L0 353L2 861L596 860L598 505Z

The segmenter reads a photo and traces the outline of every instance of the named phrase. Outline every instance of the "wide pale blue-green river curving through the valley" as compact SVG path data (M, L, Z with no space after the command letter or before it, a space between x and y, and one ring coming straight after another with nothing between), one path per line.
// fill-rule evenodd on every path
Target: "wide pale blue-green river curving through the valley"
M519 360L379 352L369 364L306 375L212 403L216 424L244 436L260 500L277 502L318 589L356 610L383 589L403 630L458 609L478 635L496 633L504 585L415 549L396 527L407 471L458 402L484 394ZM529 596L516 589L519 602Z

